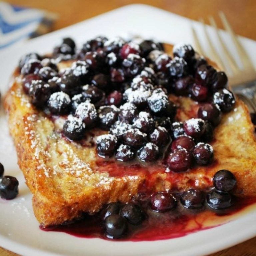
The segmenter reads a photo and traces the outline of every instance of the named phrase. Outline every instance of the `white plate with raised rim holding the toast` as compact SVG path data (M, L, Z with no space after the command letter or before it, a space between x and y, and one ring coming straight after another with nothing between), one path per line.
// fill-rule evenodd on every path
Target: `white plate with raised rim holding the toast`
M201 27L194 22L199 33ZM7 90L8 79L23 53L46 53L64 36L72 36L81 44L99 34L141 35L168 43L193 44L191 20L146 5L130 5L97 16L76 25L30 40L26 44L7 49L1 54L1 93ZM213 32L210 30L210 32ZM213 34L214 36L214 34ZM223 38L231 45L223 32ZM256 60L256 43L240 38L252 61ZM206 42L203 41L205 48ZM233 54L235 58L238 58ZM102 239L83 239L59 232L43 232L39 229L32 206L31 194L16 164L16 152L9 136L7 122L1 109L0 115L0 162L6 174L14 175L20 182L19 196L11 201L0 200L0 246L24 256L199 256L227 248L256 235L256 210L250 210L237 220L219 227L193 233L181 238L154 242L111 242Z

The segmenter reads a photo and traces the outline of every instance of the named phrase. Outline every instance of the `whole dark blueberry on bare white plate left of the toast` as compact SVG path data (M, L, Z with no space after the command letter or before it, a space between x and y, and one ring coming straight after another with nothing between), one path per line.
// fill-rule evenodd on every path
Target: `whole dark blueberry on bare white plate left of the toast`
M3 176L0 178L0 197L3 199L13 199L18 193L19 182L15 177Z

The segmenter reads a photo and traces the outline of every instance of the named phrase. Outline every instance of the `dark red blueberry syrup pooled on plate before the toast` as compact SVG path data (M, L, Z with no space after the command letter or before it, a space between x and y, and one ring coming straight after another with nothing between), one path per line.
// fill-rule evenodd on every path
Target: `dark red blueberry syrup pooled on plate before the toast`
M147 209L147 219L138 226L129 225L128 235L121 239L108 239L104 235L103 222L99 214L94 216L86 214L82 220L72 224L49 228L40 227L40 229L43 231L64 232L81 238L102 238L109 241L165 240L183 237L229 222L233 214L238 214L253 203L256 203L256 198L239 199L236 200L235 206L218 211L210 211L205 207L204 211L202 209L198 212L196 210L182 209L181 205L178 205L178 212L157 213Z

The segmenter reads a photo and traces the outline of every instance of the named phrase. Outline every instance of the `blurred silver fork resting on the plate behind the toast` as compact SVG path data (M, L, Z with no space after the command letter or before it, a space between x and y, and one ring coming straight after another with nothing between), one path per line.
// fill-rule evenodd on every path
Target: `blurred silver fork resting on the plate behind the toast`
M243 48L236 34L234 33L225 14L223 12L219 12L219 17L222 21L222 24L225 30L228 32L229 36L231 37L236 47L238 56L243 66L242 68L239 68L238 64L234 60L232 54L228 50L227 45L222 39L220 31L218 30L216 22L212 16L209 17L209 22L211 26L214 28L214 32L222 47L222 50L224 53L223 57L226 58L228 62L224 62L220 54L216 51L210 39L210 35L207 31L204 20L200 18L199 22L203 26L204 34L210 48L210 56L212 56L213 60L218 64L218 66L228 74L229 85L232 87L235 94L241 100L243 100L250 107L250 109L253 110L253 112L256 112L256 69L253 66L250 58L248 57L245 49ZM205 54L200 44L200 40L193 26L192 26L192 33L193 33L195 46L197 50L199 51L200 54L207 56L207 54Z

